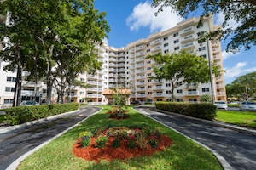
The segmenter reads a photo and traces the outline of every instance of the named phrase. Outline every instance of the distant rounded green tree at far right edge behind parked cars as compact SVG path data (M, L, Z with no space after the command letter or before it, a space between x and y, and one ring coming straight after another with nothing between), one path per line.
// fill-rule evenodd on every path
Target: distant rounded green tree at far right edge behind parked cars
M237 77L236 80L226 85L226 93L229 98L247 100L255 98L256 71Z

